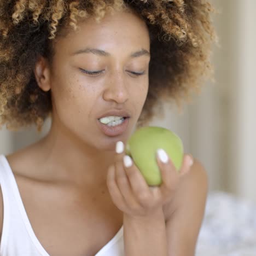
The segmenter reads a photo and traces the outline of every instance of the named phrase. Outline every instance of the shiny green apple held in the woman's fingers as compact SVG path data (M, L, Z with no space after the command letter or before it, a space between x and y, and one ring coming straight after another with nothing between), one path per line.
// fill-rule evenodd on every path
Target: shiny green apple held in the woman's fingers
M146 179L148 185L162 183L161 172L156 162L156 150L164 149L177 171L183 161L183 143L174 132L158 126L137 129L126 143L125 152L130 155Z

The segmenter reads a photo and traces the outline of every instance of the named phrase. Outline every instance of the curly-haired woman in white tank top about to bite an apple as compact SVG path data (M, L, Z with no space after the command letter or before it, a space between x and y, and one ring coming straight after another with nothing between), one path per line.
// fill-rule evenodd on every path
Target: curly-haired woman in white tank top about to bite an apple
M123 149L158 99L187 98L210 71L211 5L19 0L0 11L1 123L52 121L1 155L1 256L194 255L200 162L185 154L178 174L160 150L163 182L150 188Z

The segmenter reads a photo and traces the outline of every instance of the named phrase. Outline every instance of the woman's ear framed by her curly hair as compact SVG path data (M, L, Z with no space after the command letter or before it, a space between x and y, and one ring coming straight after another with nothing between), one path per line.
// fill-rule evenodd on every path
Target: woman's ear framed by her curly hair
M50 70L47 61L43 57L39 57L34 66L34 76L37 80L38 86L43 91L49 91L50 86Z

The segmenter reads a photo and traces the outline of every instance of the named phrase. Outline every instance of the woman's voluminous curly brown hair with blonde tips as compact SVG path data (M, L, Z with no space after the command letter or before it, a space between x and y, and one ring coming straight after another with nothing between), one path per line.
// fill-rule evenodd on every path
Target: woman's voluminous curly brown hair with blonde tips
M200 91L212 72L211 44L217 39L214 12L205 0L4 0L0 6L0 127L38 130L52 110L51 92L39 88L34 65L53 57L61 28L76 30L79 19L100 21L106 11L128 8L150 34L149 91L139 122L153 117L159 98L179 104ZM67 30L66 30L67 31ZM193 90L194 89L194 90Z

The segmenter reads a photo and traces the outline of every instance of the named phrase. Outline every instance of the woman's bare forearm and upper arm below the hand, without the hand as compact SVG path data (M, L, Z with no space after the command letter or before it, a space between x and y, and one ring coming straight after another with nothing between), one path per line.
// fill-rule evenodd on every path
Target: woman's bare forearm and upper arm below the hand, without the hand
M125 255L194 256L207 187L206 171L195 160L189 173L182 177L172 205L165 206L166 212L176 209L167 220L163 211L148 218L124 215Z

